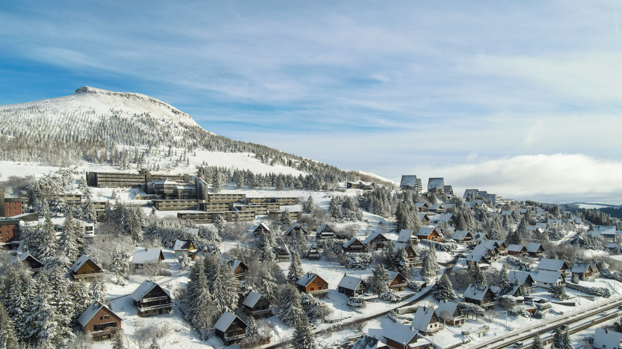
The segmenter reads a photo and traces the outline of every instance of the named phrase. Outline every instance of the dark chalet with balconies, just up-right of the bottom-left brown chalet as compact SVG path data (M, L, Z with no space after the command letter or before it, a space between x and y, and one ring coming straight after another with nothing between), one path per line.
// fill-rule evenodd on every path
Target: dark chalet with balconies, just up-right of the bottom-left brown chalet
M170 292L153 281L142 281L129 297L134 302L134 307L138 309L140 317L167 314L175 305L170 298Z

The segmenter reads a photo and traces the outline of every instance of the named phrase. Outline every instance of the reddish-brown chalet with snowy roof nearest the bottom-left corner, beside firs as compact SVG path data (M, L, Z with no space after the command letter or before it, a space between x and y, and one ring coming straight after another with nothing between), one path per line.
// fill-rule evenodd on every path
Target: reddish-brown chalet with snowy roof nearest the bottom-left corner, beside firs
M91 303L78 317L80 330L93 339L112 338L121 330L121 321L121 316L98 301Z

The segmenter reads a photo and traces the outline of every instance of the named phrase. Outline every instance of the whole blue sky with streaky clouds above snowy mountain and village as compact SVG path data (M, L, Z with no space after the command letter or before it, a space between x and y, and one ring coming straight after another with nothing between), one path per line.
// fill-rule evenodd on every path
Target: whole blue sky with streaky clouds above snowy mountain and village
M617 178L599 170L622 169L620 0L0 10L0 104L85 85L137 92L216 134L341 168L444 176L504 196L620 201L622 188L608 188ZM569 164L574 178L562 181Z

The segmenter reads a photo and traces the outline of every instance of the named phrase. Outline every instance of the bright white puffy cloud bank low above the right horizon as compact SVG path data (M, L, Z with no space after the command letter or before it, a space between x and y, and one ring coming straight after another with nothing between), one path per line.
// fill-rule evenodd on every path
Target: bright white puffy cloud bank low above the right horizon
M464 165L413 168L444 177L457 195L480 189L514 199L622 201L622 161L582 154L520 155Z

